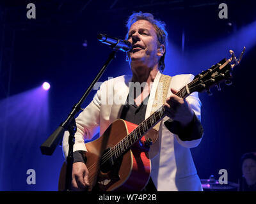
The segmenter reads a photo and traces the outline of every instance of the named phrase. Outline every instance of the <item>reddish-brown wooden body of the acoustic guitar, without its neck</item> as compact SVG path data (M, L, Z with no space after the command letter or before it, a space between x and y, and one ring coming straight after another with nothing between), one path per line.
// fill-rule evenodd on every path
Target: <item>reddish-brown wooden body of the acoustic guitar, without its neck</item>
M85 144L88 150L86 166L89 170L89 191L141 191L147 185L151 168L150 159L148 159L149 148L145 146L144 136L115 162L109 154L104 155L137 126L117 119L100 138ZM108 161L102 164L106 158ZM65 171L64 163L59 179L60 191L65 189Z

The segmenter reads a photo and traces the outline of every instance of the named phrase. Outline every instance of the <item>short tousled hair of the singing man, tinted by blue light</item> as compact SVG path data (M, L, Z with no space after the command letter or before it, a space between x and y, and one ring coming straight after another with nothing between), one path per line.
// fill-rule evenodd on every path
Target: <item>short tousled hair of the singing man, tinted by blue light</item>
M138 20L147 20L148 22L150 22L153 25L154 29L156 30L158 46L163 44L165 47L165 52L163 56L159 59L159 70L163 72L165 67L164 57L168 46L168 33L166 32L165 29L166 24L163 21L156 20L151 13L142 13L141 11L138 13L132 13L132 15L128 18L126 24L128 30L126 39L128 39L128 32L129 29L131 28L131 25Z

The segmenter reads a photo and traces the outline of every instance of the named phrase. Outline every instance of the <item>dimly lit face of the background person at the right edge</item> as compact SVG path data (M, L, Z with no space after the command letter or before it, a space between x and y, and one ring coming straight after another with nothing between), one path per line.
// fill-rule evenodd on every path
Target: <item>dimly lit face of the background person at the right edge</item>
M242 171L246 180L256 180L256 161L245 159L242 165Z

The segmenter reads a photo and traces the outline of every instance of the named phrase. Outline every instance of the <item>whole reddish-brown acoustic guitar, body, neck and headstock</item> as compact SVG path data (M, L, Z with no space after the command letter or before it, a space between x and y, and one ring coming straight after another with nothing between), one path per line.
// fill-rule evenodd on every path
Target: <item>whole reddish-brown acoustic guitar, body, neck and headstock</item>
M239 60L230 50L230 59L223 59L196 75L176 95L186 98L192 92L204 91L211 95L211 87L220 87L220 83L224 81L227 85L232 84L232 69L241 61L244 50L245 47ZM146 140L145 135L165 116L164 106L161 106L139 125L117 119L97 140L85 143L88 150L88 191L141 191L148 183L151 169L148 151L152 140ZM65 189L65 173L64 163L59 179L60 191Z

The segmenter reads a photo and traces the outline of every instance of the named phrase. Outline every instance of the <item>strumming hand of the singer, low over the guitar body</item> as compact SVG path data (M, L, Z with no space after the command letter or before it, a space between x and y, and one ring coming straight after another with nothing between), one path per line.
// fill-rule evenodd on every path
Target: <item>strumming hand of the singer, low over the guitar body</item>
M72 189L74 191L86 191L89 184L89 171L83 162L73 164Z

